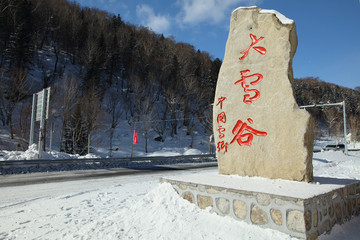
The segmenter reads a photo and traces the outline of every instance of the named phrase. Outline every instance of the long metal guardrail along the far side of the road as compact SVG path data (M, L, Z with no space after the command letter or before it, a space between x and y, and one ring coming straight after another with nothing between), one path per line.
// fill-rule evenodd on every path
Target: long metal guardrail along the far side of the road
M168 164L208 162L216 162L216 156L204 154L171 157L9 160L0 161L0 175L106 168L142 169Z

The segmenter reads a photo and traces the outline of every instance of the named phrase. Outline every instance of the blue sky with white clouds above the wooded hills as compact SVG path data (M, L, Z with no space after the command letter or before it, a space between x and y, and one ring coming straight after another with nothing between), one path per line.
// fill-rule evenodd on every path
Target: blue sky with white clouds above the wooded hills
M293 19L298 35L294 77L360 86L360 0L76 0L120 14L223 59L231 12L239 6L274 9Z

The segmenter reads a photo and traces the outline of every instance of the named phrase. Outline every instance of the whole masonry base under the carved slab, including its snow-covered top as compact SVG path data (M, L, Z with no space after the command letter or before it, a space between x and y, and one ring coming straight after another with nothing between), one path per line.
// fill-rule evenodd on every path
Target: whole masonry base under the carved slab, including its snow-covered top
M360 181L348 179L304 183L214 173L160 181L201 209L302 239L316 239L360 213Z

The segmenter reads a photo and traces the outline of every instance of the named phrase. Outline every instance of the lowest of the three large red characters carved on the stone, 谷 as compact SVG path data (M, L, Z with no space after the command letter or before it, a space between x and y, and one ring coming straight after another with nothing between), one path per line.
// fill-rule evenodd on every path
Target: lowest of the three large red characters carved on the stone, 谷
M251 118L248 118L247 120L250 124L252 124L254 122ZM244 133L245 131L248 131L249 133ZM232 130L232 133L235 135L235 137L230 142L230 144L237 141L237 143L240 146L242 146L242 145L251 146L254 135L256 135L256 136L266 136L267 135L266 132L261 132L259 130L256 130L256 129L248 126L247 123L245 123L241 120L237 121L234 129Z

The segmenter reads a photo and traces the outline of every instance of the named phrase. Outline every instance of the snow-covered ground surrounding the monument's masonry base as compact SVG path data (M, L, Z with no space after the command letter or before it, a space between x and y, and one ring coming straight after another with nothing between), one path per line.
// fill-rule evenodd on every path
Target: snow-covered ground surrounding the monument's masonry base
M315 153L314 175L360 179L360 152L349 154ZM0 189L0 239L292 239L200 210L170 185L159 184L164 176L216 171L4 187ZM359 239L359 225L360 217L353 218L319 239Z

